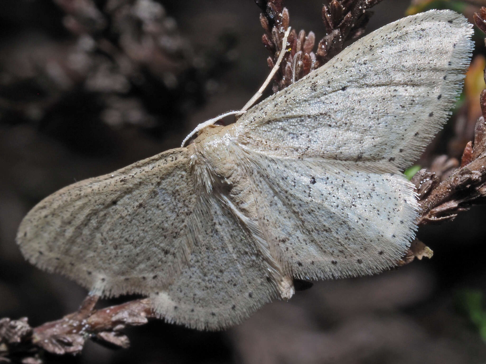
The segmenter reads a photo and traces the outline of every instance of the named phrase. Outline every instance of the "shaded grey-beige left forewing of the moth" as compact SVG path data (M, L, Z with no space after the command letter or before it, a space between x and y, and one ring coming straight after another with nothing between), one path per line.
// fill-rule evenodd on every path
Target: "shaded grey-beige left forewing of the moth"
M22 220L17 244L33 264L105 296L173 282L191 248L196 189L185 148L71 184Z

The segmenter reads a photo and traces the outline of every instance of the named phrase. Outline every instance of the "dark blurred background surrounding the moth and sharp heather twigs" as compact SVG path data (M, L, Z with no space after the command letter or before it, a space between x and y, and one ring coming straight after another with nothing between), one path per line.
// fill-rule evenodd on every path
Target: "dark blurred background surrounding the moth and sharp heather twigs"
M460 11L472 22L483 2L384 0L372 9L368 31L431 8ZM324 35L321 0L285 6L291 26ZM177 147L198 123L241 108L268 73L259 13L253 0L2 0L0 317L28 316L36 326L77 309L84 289L24 262L14 241L21 218L58 188ZM460 158L471 140L485 88L483 37L475 33L454 115L417 165L438 154ZM316 282L225 332L156 320L128 331L130 349L89 342L81 356L45 359L484 363L485 217L485 207L475 207L421 228L419 238L434 250L430 261Z

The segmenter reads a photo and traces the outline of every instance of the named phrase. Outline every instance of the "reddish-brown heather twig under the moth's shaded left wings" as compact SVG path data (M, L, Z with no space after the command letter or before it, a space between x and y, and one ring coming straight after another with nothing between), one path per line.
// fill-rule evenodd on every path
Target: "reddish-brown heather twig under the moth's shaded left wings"
M148 299L137 299L121 305L95 310L97 296L87 296L79 310L60 320L31 328L27 317L19 320L0 320L0 362L10 358L22 363L41 363L38 352L79 354L87 339L110 347L129 347L129 340L121 330L138 326L154 317Z

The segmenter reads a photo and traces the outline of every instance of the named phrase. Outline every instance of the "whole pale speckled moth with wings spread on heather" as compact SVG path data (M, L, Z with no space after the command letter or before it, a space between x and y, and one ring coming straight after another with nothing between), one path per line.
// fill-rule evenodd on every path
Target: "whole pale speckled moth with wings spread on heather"
M388 269L416 230L400 171L450 115L471 34L449 10L388 24L234 124L43 199L18 246L92 294L147 295L208 330L291 298L293 278Z

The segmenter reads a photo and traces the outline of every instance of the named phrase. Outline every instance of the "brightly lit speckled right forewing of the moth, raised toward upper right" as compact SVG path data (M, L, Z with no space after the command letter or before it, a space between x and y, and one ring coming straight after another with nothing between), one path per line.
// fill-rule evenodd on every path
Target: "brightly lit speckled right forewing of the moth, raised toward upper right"
M469 66L472 25L451 10L393 23L254 106L238 142L265 155L396 173L442 128Z

